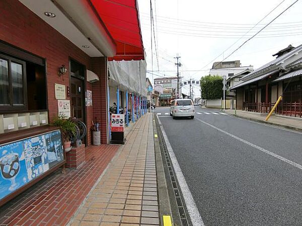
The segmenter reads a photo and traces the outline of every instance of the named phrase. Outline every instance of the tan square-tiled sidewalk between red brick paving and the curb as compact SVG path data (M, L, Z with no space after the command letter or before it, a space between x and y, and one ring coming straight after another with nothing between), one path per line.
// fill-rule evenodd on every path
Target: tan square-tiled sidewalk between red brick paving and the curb
M153 118L133 125L70 225L159 225Z

